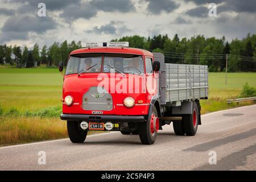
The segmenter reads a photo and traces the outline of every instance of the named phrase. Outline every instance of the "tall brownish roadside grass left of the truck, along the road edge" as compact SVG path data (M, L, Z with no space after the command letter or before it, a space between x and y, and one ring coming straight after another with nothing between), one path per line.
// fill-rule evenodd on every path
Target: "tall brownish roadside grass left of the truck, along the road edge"
M0 145L67 137L66 123L59 118L0 116Z

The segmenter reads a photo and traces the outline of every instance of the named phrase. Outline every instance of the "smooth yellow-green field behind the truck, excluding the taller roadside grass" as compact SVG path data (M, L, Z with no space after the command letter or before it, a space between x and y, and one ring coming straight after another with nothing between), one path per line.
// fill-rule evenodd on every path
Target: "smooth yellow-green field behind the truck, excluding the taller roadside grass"
M37 110L61 106L63 76L52 68L0 68L0 106L18 110ZM256 73L209 73L209 98L230 98L240 94L248 82L256 86Z

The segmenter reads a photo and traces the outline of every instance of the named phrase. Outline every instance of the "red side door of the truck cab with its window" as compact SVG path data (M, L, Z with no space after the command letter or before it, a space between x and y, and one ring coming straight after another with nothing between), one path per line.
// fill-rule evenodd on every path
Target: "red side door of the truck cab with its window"
M151 99L156 94L156 77L152 70L152 57L145 57L145 68L146 68L146 88L147 103L151 102Z

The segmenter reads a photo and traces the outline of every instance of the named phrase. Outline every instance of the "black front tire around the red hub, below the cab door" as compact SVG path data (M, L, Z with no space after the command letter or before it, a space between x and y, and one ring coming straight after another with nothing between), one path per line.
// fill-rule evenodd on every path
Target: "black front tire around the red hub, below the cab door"
M158 112L156 107L153 107L153 111L155 117L158 117ZM141 139L142 144L153 144L156 139L157 131L152 135L150 129L150 118L148 118L147 122L141 122L138 125L139 139Z

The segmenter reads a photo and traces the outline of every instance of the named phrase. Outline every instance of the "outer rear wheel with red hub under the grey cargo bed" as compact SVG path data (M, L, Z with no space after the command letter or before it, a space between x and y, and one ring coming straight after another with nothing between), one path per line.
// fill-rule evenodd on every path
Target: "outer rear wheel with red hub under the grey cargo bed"
M195 116L196 116L196 119L195 119ZM196 134L198 122L199 122L199 109L196 102L193 101L192 114L184 115L184 126L185 126L184 128L185 128L185 134L187 136L194 136Z

